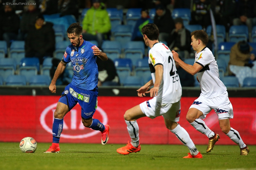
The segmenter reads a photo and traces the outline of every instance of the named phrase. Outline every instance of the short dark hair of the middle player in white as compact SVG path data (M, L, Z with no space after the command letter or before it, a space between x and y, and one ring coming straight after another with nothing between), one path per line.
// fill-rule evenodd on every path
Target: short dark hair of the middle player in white
M144 25L141 29L141 32L143 35L146 34L146 36L150 40L158 40L159 30L156 24L150 23L150 24Z

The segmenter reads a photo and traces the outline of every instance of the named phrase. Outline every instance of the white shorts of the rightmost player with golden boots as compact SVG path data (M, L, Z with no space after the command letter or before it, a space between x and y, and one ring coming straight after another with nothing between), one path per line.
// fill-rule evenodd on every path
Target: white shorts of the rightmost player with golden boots
M202 96L199 96L190 108L196 108L200 110L204 115L200 116L199 118L205 119L206 115L214 109L215 113L218 115L218 119L233 119L233 106L228 99L228 93L206 99Z

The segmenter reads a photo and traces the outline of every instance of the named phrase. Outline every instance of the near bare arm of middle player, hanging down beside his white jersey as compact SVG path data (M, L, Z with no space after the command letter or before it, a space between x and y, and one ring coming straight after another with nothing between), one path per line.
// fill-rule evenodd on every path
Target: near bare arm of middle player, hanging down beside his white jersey
M150 89L150 91L145 92L145 93L150 93L150 97L157 96L159 86L163 79L163 65L156 65L155 70L156 70L156 72L155 72L156 80L155 80L154 87L152 89Z

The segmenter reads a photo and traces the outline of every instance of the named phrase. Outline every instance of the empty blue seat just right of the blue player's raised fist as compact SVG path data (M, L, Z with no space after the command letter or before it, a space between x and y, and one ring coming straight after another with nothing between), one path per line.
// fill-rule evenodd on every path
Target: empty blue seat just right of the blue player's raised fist
M118 41L104 41L101 48L111 60L120 58L122 46Z

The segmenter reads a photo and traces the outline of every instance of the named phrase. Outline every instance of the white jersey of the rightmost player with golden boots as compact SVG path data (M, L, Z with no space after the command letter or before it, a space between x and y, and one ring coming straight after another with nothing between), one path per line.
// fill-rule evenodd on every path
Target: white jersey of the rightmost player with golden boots
M205 98L214 98L226 93L227 88L220 80L217 61L207 47L195 54L195 62L203 68L197 73L201 86L201 95Z

